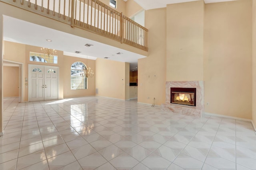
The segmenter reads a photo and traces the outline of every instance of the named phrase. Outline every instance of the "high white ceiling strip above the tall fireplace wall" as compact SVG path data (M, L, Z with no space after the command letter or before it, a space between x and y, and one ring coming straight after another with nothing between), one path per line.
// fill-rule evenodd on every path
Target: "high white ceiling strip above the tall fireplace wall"
M156 8L165 8L167 4L176 4L182 2L192 2L197 0L134 0L145 10L151 10ZM233 0L204 0L204 3L226 2Z

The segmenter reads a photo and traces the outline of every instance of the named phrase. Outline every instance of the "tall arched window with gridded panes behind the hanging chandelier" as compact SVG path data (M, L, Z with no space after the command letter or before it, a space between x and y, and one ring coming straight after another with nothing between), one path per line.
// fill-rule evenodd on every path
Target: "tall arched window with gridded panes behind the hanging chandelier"
M71 66L71 90L87 89L87 78L80 76L86 65L82 62L73 63Z

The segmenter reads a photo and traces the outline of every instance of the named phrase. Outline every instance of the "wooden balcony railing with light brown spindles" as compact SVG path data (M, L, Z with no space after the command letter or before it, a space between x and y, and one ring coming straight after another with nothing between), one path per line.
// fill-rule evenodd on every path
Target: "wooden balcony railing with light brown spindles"
M98 0L0 0L148 51L148 29Z

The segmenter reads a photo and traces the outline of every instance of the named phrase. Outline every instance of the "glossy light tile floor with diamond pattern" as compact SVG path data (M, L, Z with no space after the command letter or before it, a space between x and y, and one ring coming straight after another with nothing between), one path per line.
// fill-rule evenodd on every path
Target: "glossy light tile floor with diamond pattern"
M0 169L255 170L246 121L194 118L102 97L4 99Z

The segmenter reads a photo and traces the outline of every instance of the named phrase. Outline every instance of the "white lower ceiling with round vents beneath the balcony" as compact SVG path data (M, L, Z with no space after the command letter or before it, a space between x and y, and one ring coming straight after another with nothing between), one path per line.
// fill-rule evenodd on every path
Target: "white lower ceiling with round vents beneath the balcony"
M46 39L51 39L52 42L48 42ZM96 60L96 58L109 57L107 60L130 63L130 70L137 70L135 67L138 66L138 59L146 57L9 16L4 16L4 40L56 49L64 51L64 55L74 57L88 57L88 59L93 60ZM93 46L85 47L84 45L87 43ZM76 54L74 53L75 51L81 51L82 53ZM117 55L116 53L122 54Z

